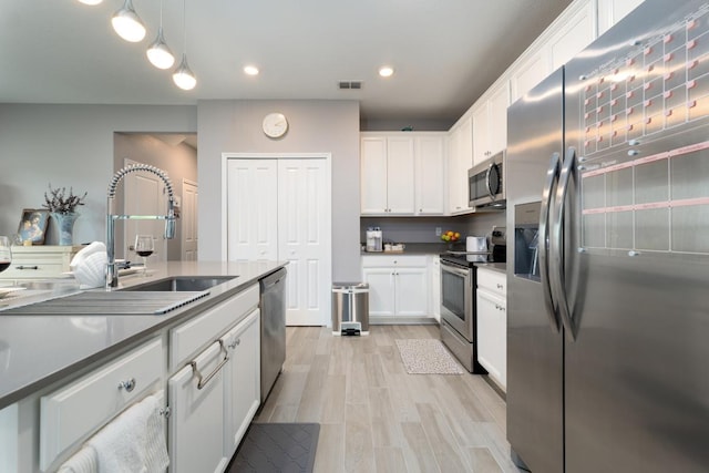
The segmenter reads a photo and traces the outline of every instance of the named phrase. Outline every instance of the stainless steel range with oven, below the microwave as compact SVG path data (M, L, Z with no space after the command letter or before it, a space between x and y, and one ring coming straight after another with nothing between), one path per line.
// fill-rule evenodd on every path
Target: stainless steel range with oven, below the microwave
M477 265L504 261L504 228L497 227L493 251L450 251L441 258L441 341L472 373L487 371L477 362L475 290ZM493 229L493 235L495 234ZM477 241L477 245L482 245ZM467 249L467 244L466 244ZM495 259L495 255L499 259Z

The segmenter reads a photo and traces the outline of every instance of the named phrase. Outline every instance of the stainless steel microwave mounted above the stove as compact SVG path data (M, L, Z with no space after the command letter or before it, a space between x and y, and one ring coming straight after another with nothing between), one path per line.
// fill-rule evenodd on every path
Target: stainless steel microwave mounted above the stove
M505 152L491 156L467 171L470 207L475 210L502 210L505 200Z

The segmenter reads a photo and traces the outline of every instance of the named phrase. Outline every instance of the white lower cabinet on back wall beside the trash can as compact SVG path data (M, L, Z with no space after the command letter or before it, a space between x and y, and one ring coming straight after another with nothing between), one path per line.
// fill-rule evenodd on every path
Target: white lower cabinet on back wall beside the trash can
M364 256L362 278L369 284L369 313L373 317L429 315L427 256Z

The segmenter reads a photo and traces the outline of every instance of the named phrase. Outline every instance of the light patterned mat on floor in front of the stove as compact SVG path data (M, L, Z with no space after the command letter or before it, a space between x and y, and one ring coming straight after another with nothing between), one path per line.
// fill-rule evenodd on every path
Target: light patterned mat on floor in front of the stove
M465 370L453 359L441 340L395 340L401 361L409 374L463 374Z

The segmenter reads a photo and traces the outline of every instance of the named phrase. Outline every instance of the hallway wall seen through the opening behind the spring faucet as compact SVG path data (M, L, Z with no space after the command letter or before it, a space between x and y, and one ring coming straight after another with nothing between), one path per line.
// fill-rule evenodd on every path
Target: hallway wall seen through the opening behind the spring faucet
M177 137L184 135L177 135ZM167 173L173 184L176 196L182 196L183 179L197 182L197 151L184 143L172 144L158 140L154 135L142 133L115 133L114 135L114 168L119 169L125 165L125 158L138 163L156 166ZM119 186L116 192L116 203L123 202L124 186ZM122 205L117 206L122 208ZM117 222L115 248L117 257L125 256L125 243L123 241L123 223ZM167 240L167 259L182 259L182 219L177 219L175 226L175 238Z

